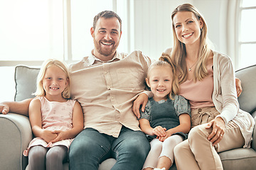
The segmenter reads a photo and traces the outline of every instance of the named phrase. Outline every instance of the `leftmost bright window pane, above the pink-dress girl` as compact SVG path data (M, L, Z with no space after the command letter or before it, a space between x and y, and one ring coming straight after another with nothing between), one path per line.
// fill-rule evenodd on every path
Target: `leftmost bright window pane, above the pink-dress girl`
M1 1L0 21L0 66L62 60L62 0Z

